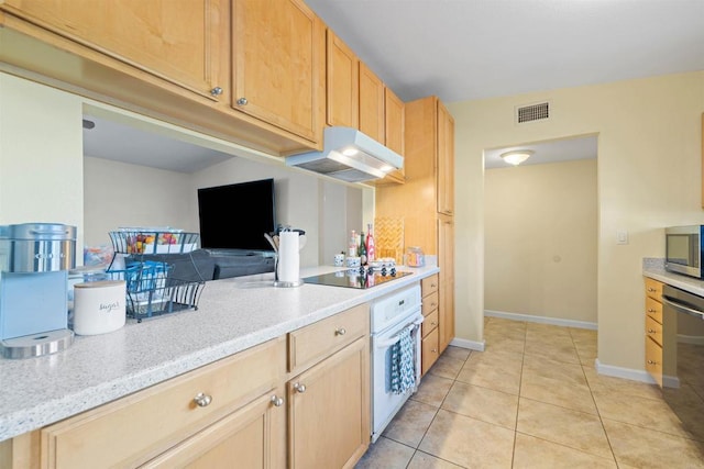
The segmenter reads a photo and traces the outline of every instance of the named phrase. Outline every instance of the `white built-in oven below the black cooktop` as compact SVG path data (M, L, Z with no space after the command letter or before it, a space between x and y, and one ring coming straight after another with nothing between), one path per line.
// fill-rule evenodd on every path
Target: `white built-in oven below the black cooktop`
M375 443L399 411L413 395L420 382L420 286L391 293L372 304L372 443ZM405 392L395 392L392 387L392 347L400 340L400 334L410 332L413 340L413 362L415 384Z

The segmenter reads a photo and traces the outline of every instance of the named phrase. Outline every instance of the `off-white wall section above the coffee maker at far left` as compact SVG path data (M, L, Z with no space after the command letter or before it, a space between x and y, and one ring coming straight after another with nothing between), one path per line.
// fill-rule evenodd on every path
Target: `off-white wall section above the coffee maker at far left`
M81 119L78 97L0 74L0 224L77 226L77 259L84 237Z

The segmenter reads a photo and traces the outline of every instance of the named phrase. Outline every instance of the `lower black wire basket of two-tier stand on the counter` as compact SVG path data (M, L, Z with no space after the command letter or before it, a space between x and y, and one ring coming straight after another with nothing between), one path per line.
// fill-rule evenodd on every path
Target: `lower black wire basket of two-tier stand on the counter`
M141 322L184 310L197 310L205 281L169 277L172 266L153 260L129 263L123 270L108 270L114 280L127 284L128 317Z

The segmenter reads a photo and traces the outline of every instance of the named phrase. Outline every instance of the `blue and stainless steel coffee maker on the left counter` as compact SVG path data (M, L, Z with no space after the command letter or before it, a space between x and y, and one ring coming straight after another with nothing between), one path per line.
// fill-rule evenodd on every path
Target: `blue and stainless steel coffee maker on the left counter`
M68 330L68 270L76 266L76 227L57 223L0 226L0 353L52 354L74 339Z

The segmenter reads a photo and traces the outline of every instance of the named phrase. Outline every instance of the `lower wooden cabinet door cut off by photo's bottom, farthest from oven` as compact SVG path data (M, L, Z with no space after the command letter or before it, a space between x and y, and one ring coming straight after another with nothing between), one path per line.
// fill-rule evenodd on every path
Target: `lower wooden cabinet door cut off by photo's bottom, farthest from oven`
M277 469L286 466L283 387L180 443L144 468ZM279 401L277 401L280 399Z

